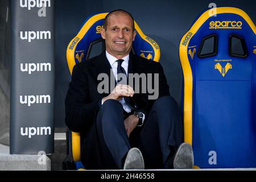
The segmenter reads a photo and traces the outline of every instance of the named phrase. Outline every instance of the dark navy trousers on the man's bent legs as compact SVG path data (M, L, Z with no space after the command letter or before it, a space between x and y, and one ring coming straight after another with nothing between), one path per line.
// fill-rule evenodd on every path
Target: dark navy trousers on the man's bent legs
M183 121L171 96L158 98L143 127L136 127L128 138L120 102L107 100L101 106L85 137L81 160L87 169L122 169L123 158L131 147L138 147L145 168L164 168L171 149L183 142Z

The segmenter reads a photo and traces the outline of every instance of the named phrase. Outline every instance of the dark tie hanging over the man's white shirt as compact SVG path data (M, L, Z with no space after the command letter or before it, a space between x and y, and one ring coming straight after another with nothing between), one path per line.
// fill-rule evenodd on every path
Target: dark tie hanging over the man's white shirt
M123 60L123 59L117 60L117 84L120 83L120 84L128 85L128 78L127 78L125 69L121 66L123 61L125 61L125 60ZM121 78L123 79L123 77L119 77L118 76L119 73L122 73L123 75L125 75L126 80L121 80ZM125 103L130 107L131 111L136 110L135 104L134 104L133 100L131 99L131 97L123 97L123 98L125 98Z

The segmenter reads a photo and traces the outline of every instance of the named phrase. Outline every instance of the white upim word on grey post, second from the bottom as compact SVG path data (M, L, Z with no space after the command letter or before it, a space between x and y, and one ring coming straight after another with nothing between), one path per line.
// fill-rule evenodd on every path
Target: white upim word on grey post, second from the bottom
M51 96L19 96L20 104L27 104L31 106L31 104L46 104L51 103Z

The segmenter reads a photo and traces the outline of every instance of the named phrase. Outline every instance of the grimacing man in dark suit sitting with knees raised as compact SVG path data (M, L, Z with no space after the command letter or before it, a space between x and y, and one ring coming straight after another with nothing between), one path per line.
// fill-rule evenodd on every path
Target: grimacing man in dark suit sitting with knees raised
M182 143L183 121L163 68L131 53L135 35L133 16L112 11L101 30L106 52L73 68L65 123L84 138L82 164L86 169L192 168L192 147ZM131 73L153 76L132 87ZM158 97L143 92L148 85Z

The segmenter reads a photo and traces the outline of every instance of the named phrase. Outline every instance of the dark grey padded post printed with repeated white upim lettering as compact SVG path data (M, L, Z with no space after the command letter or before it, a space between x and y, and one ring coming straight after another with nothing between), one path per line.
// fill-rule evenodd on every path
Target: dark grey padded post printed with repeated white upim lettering
M10 154L53 153L53 4L11 0Z

